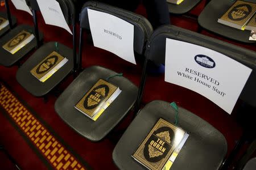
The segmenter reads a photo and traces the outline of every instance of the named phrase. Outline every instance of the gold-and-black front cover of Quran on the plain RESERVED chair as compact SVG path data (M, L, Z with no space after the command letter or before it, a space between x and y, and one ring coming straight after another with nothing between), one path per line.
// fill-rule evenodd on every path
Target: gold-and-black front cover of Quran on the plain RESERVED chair
M99 79L97 83L86 92L79 103L75 105L75 108L87 114L89 117L93 117L96 112L100 112L102 104L104 104L117 89L118 87L113 84Z

